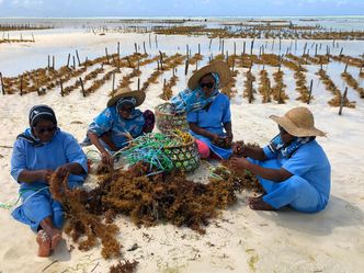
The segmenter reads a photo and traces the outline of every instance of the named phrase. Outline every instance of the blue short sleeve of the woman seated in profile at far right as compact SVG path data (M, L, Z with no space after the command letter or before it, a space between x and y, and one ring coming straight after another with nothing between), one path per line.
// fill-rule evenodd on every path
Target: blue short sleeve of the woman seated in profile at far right
M310 155L307 149L299 149L283 163L282 168L295 175L302 177L315 166L317 166L315 156Z

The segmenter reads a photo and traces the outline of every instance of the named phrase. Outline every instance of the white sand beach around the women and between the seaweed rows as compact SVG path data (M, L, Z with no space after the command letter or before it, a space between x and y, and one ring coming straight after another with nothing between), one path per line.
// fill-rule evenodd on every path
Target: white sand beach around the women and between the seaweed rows
M96 36L82 31L72 33L42 32L36 35L35 44L0 45L0 71L13 76L25 69L46 66L47 55L55 55L57 66L65 64L67 54L78 49L82 59L93 58L104 53L116 50L116 43L121 42L122 55L134 50L134 42L141 44L148 41L148 35L106 34ZM178 48L184 54L185 44L192 47L192 54L202 44L205 60L209 56L208 39L206 37L158 36L159 48L168 55ZM241 48L242 41L236 39ZM265 42L262 42L262 44ZM289 41L285 44L289 45ZM299 42L303 45L305 42ZM350 49L351 55L362 54L363 42L340 42ZM214 41L214 56L218 42ZM232 41L226 41L226 48L232 52ZM270 47L270 46L269 46ZM322 46L326 48L326 46ZM113 49L112 49L113 48ZM259 48L259 46L257 46ZM300 46L302 48L302 46ZM346 47L345 47L346 48ZM156 55L152 45L148 53ZM284 50L285 52L285 48ZM141 81L155 69L155 64L141 68ZM340 70L338 70L340 67ZM257 79L260 67L253 67ZM329 75L343 90L343 82L339 75L342 66L329 66ZM180 80L177 92L185 87L186 79L179 67ZM289 101L285 105L275 103L262 104L257 95L253 104L242 99L244 69L238 68L238 95L231 101L232 125L235 139L266 144L276 134L276 125L268 118L270 114L284 114L288 109L305 105L296 101L293 73L283 69L287 84L286 92ZM271 80L273 68L268 68ZM201 236L189 228L177 228L172 225L159 225L152 228L138 228L127 217L120 217L120 241L124 246L123 257L139 262L138 272L363 272L364 268L364 103L354 90L349 88L349 98L355 100L356 109L344 109L339 116L338 109L327 104L331 94L319 83L315 72L318 67L309 68L307 79L314 79L315 100L309 105L316 117L316 124L329 133L327 138L320 138L332 166L332 191L328 207L318 214L305 215L289 209L280 213L254 212L246 205L248 193L239 195L238 203L221 216L214 219L206 228L206 235ZM129 70L117 75L117 80ZM356 77L359 69L350 70ZM147 100L141 109L153 109L161 103L162 79L169 79L170 72L164 73L158 84L152 84L147 91ZM363 87L363 83L361 83ZM132 84L135 88L136 83ZM27 113L36 103L49 104L56 111L59 126L72 133L78 140L82 140L86 128L91 120L104 109L111 82L88 98L82 98L80 90L61 98L59 88L44 96L27 94L20 96L1 95L0 98L0 145L12 146L15 137L27 126ZM75 123L77 122L77 123ZM78 124L78 123L81 124ZM0 201L15 201L18 184L10 175L11 148L0 148L0 180L2 187ZM196 178L204 178L206 166L195 173ZM94 186L95 179L91 177L86 186ZM56 261L44 272L109 272L109 266L116 260L104 261L101 248L89 252L77 249L67 236L65 241L49 258L37 258L35 236L30 228L10 217L11 211L0 209L0 272L42 272L53 261ZM139 246L135 251L127 251L134 243ZM76 248L70 252L70 246Z

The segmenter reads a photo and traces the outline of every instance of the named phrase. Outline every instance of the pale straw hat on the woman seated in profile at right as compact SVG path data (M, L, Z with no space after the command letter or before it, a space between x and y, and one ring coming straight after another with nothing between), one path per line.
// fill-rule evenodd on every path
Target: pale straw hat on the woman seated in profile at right
M314 115L307 107L294 107L284 116L271 115L270 118L293 136L326 136L325 132L315 127Z

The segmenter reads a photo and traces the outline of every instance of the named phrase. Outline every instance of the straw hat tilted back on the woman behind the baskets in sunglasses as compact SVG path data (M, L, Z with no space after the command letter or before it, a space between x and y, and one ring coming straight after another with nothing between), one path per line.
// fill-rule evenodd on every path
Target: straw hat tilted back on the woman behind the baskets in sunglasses
M224 88L231 79L231 71L228 64L223 60L215 60L209 65L198 69L191 76L189 80L189 88L191 90L195 90L198 87L200 79L211 72L218 73L220 78L220 88Z

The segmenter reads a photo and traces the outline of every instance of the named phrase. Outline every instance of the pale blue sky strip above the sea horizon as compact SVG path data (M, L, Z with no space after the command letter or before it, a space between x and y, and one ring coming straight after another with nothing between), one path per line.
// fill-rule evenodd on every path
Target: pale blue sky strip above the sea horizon
M0 18L362 14L364 0L0 0Z

